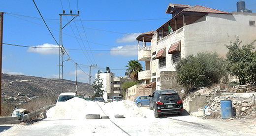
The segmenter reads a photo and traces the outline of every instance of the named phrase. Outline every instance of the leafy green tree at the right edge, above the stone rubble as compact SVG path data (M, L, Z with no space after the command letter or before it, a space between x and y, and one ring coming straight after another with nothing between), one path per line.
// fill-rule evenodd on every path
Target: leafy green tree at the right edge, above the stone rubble
M254 42L240 47L241 42L237 39L233 44L225 45L228 49L226 54L227 71L239 79L239 84L256 84L256 52Z

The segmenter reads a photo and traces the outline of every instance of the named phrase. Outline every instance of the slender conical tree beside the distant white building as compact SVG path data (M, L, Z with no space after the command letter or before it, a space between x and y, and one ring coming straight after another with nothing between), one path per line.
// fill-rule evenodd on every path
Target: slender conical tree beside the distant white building
M94 81L93 84L93 89L94 89L94 95L92 96L92 99L95 97L102 97L104 94L104 90L101 90L103 88L103 83L102 83L102 78L99 77L99 70L97 72L97 77Z

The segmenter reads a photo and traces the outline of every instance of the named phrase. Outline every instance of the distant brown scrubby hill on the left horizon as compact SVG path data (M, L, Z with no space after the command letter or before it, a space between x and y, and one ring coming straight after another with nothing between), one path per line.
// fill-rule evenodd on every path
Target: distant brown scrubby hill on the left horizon
M62 84L62 80L60 82ZM35 76L9 75L2 73L2 101L26 103L32 98L56 97L59 92L59 79L48 79ZM64 79L64 92L75 92L75 81ZM92 93L92 88L91 88ZM89 84L77 82L77 94L89 95Z

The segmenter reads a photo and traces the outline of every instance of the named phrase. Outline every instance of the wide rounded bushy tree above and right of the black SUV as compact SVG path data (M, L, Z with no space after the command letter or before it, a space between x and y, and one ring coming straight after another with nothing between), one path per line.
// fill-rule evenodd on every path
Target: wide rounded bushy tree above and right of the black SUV
M176 64L176 81L186 88L187 93L197 87L209 87L219 83L225 75L224 59L216 52L200 52L189 55Z

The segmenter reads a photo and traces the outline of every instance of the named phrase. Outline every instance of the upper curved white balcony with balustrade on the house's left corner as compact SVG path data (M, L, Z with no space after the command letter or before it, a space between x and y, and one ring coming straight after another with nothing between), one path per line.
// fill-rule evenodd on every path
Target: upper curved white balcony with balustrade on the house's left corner
M151 46L144 46L138 51L139 61L150 61L151 59Z

